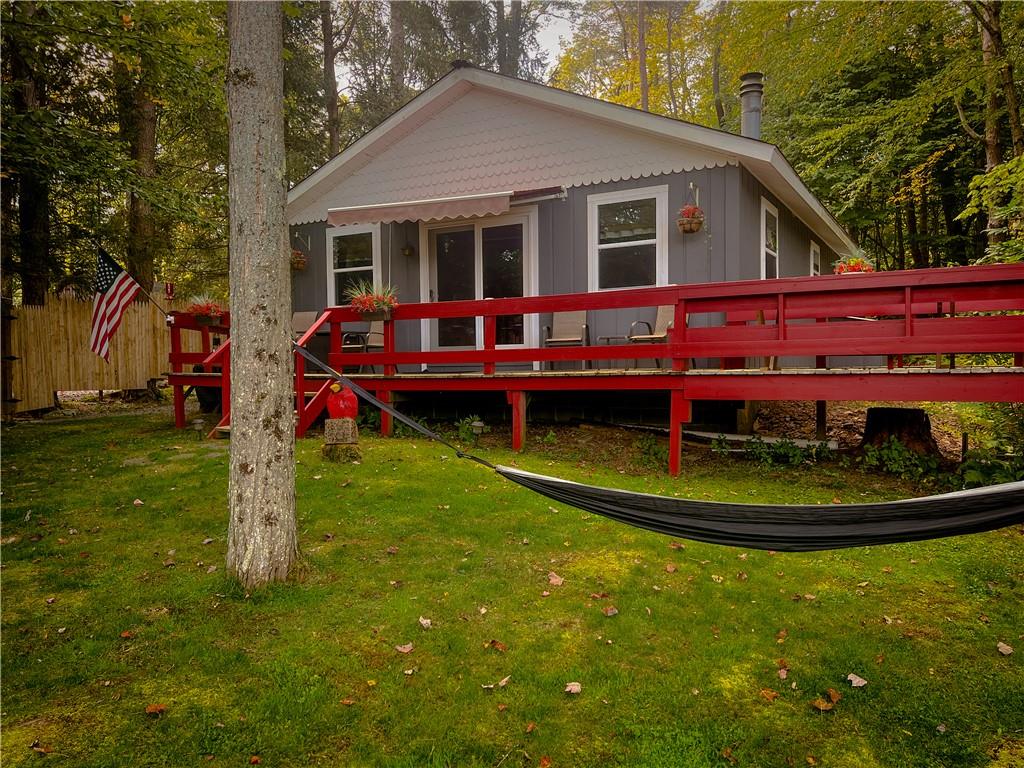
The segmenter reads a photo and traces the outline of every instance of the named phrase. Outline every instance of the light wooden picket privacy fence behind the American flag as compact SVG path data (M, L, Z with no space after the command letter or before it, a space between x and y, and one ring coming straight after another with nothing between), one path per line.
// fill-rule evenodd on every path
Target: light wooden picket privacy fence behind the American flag
M165 304L181 310L187 302ZM53 393L83 389L144 389L167 371L170 334L151 302L133 303L111 339L110 361L89 348L92 302L50 296L41 306L5 306L4 413L53 406ZM184 344L200 349L200 339Z

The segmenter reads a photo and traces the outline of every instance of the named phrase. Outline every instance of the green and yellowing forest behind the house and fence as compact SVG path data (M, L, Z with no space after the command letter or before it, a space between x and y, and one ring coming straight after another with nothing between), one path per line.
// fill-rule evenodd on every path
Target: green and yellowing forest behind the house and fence
M143 285L224 295L222 2L5 0L3 295L91 294L102 246ZM1024 258L1024 3L285 3L290 184L454 59L738 132L765 74L777 144L884 269ZM554 17L571 43L547 60Z

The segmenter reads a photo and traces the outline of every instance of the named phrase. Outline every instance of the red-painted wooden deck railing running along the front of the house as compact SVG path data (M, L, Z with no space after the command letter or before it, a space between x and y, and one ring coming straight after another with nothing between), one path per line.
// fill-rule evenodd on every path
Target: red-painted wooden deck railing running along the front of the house
M496 344L497 321L503 315L537 315L556 311L640 309L673 305L674 328L665 343L604 344L580 347L545 348L517 346L499 348ZM482 317L483 339L478 349L403 350L395 346L397 324L444 317ZM327 327L330 332L329 364L338 370L374 367L382 375L368 377L367 388L383 399L393 391L481 389L506 391L516 414L523 417L523 391L538 389L659 389L672 392L673 416L688 420L688 401L692 399L857 399L889 398L895 384L879 388L854 371L829 376L827 385L817 382L797 384L795 378L782 381L778 376L697 377L688 375L694 358L718 360L718 367L739 369L748 358L811 356L818 368L828 355L883 356L901 361L905 355L964 353L1010 353L1013 365L1024 366L1024 265L993 265L921 269L869 274L822 275L772 281L743 281L686 286L665 286L598 293L536 296L483 301L451 301L402 304L384 323L383 349L376 352L345 352L342 340L360 321L349 306L328 307L302 335L298 343L307 346ZM183 387L201 380L188 377L183 367L203 365L220 368L219 386L224 394L226 422L229 392L229 354L225 343L217 350L209 345L212 330L226 334L227 319L217 329L200 327L188 315L176 315L171 326L171 371L175 385L176 414L180 411L183 426ZM202 353L181 351L183 330L204 334ZM625 331L625 329L624 329ZM417 334L419 336L419 334ZM626 361L634 367L640 360L660 359L665 370L637 371L608 375L595 371L592 376L571 376L545 372L535 379L512 380L502 370L507 364L549 364L578 361L594 364ZM757 364L755 364L757 365ZM399 366L455 366L475 371L475 377L439 376L423 379L397 374ZM318 373L318 372L315 372ZM703 373L707 373L705 371ZM739 372L736 372L739 373ZM766 372L767 373L767 372ZM782 372L784 374L784 372ZM986 373L991 373L987 371ZM1014 372L986 379L985 386L963 387L969 381L957 377L963 391L943 384L926 384L926 378L913 379L915 399L1024 399L1024 377ZM655 375L656 374L656 375ZM781 375L781 374L780 374ZM985 374L979 373L978 376ZM859 377L859 378L858 378ZM933 381L936 377L930 377ZM756 381L756 379L760 379ZM209 377L202 380L210 385ZM872 382L881 381L877 376ZM980 381L980 379L979 379ZM904 377L898 386L910 386ZM213 384L217 386L217 384ZM297 430L301 435L322 412L329 382L310 377L305 360L296 355L295 388ZM854 389L855 388L855 389ZM887 393L889 396L887 396ZM306 396L311 394L311 399ZM787 396L782 396L787 395ZM938 396L935 396L938 395ZM909 399L910 397L903 397ZM180 400L180 402L179 402ZM517 409L517 402L520 408ZM384 428L389 428L384 420Z

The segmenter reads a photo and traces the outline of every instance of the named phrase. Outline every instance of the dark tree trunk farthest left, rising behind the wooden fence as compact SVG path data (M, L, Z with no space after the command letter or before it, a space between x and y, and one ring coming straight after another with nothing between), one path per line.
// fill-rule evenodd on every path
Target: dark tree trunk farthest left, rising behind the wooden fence
M15 3L25 20L32 22L36 4ZM46 109L46 85L41 74L29 63L30 51L7 51L11 75L17 83L11 88L11 100L18 115L31 115ZM42 304L50 290L55 271L50 246L50 178L45 168L23 166L17 169L18 278L22 303Z

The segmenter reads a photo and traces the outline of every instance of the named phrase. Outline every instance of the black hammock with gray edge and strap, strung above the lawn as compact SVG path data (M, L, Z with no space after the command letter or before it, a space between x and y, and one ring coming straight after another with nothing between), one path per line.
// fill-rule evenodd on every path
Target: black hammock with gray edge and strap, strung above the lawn
M1024 482L882 504L731 504L616 490L495 466L382 402L306 349L298 345L296 349L359 397L447 445L460 458L489 467L549 499L658 534L748 549L815 552L980 534L1024 523Z

